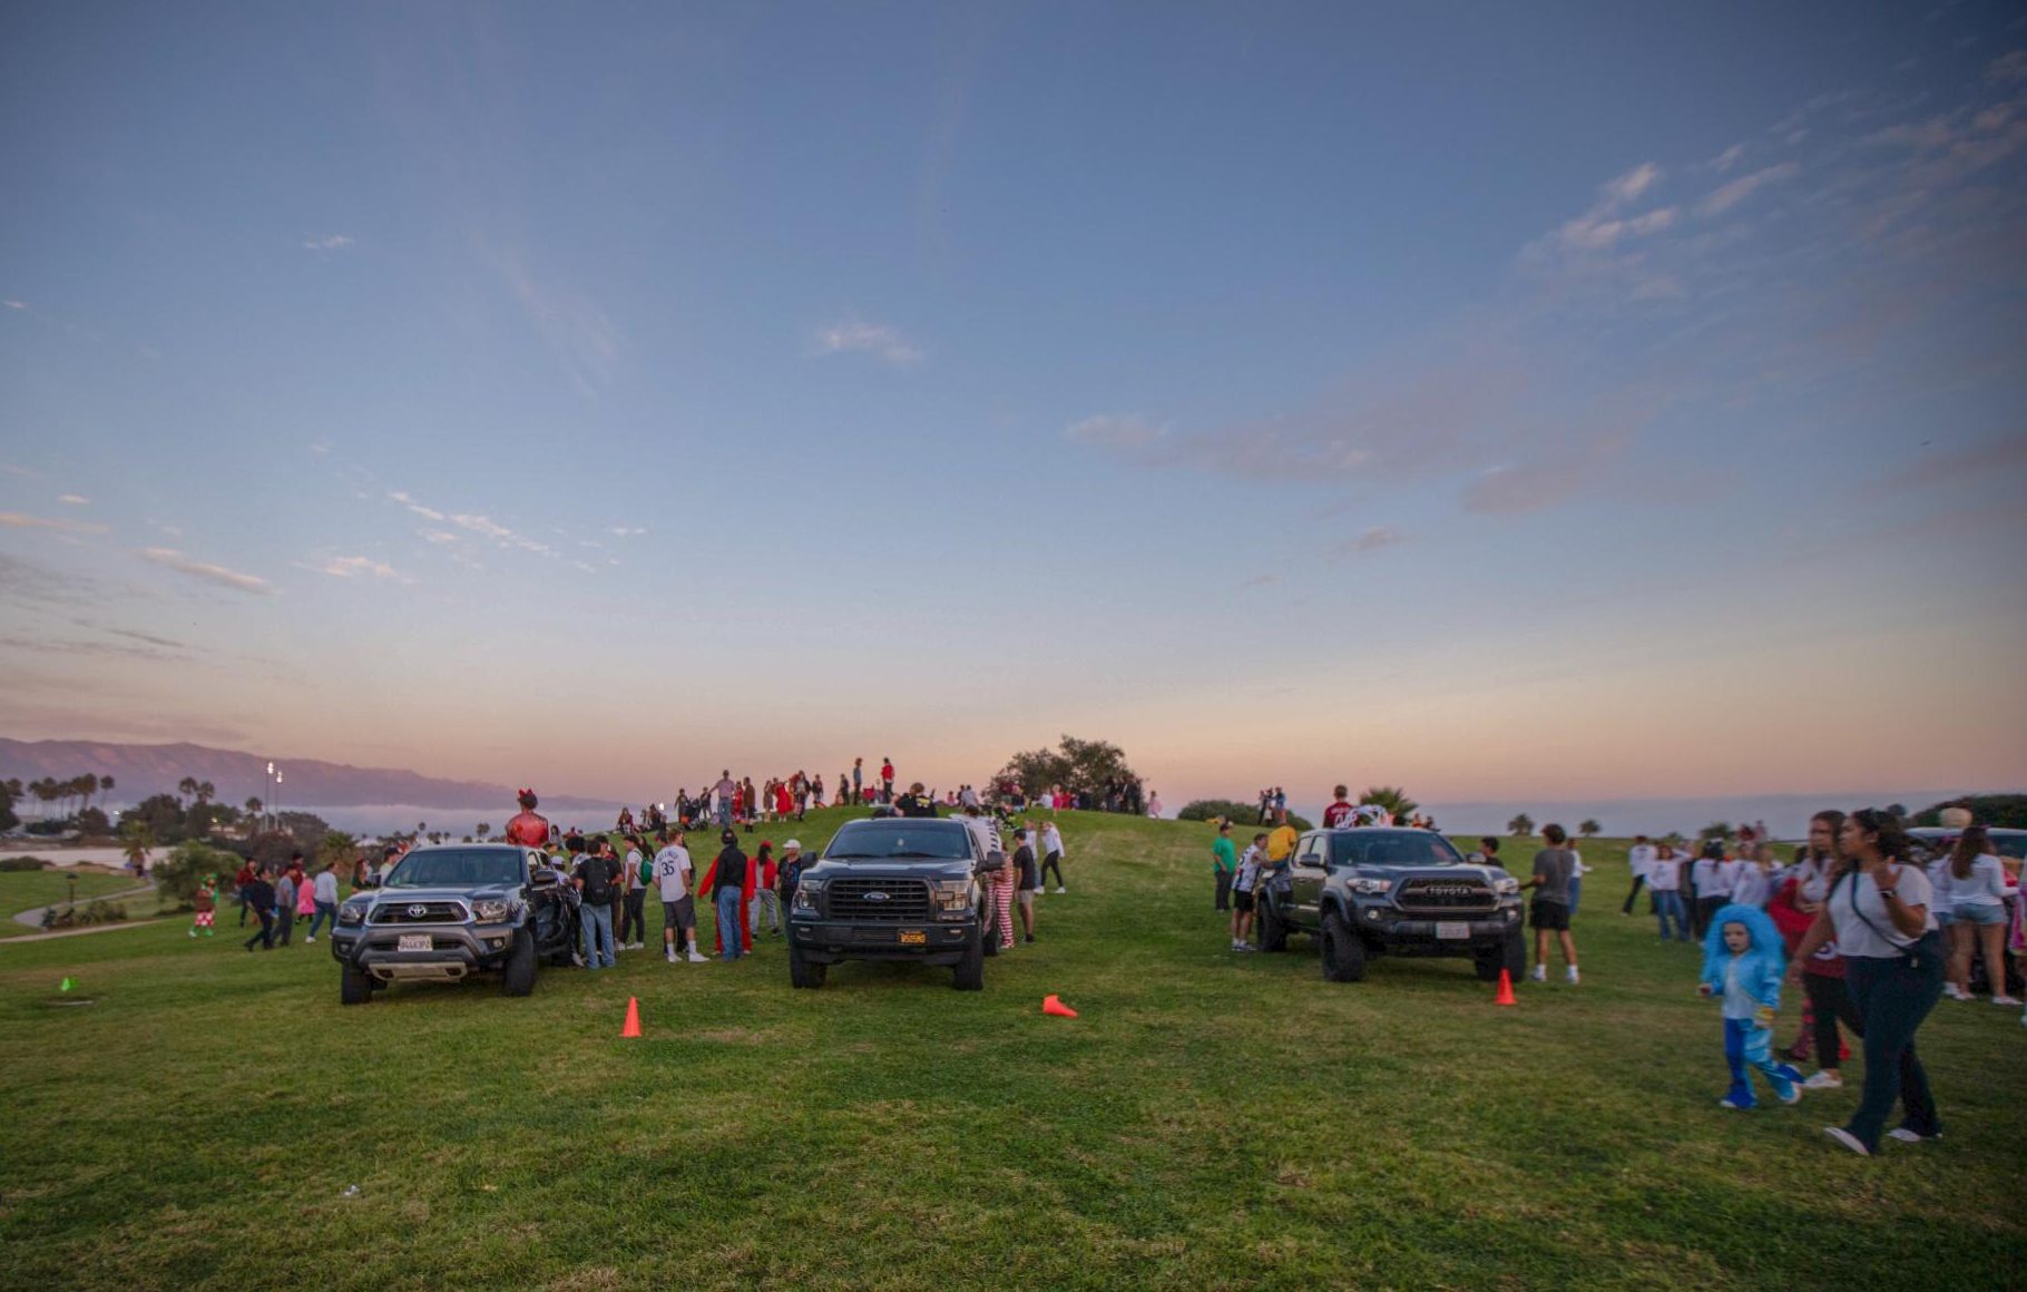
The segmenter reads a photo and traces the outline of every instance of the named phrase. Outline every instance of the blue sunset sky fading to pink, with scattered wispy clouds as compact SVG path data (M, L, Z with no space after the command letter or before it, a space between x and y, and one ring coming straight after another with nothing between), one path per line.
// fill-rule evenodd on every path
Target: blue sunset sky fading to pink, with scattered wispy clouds
M0 10L0 734L2027 789L2007 4Z

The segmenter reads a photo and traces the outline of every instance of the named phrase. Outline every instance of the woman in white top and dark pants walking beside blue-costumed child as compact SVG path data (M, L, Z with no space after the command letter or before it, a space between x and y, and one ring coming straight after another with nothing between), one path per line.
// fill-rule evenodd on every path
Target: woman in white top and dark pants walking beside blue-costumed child
M1942 1136L1942 1116L1913 1034L1942 1000L1942 933L1930 913L1928 874L1911 864L1911 842L1897 817L1863 807L1838 832L1847 866L1830 884L1796 947L1790 980L1822 943L1836 939L1845 984L1865 1020L1865 1095L1845 1126L1824 1132L1855 1154L1879 1152L1879 1132L1899 1101L1905 1116L1887 1132L1920 1144Z

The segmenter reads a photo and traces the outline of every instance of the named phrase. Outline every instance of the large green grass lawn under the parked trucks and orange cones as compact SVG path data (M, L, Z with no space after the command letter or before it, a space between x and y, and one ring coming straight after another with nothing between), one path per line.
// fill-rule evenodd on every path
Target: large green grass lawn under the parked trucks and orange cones
M1070 892L981 994L904 965L793 992L764 939L738 965L628 953L545 970L529 1000L478 980L345 1010L322 943L247 955L231 907L213 941L0 947L8 1282L1972 1288L2019 1268L2017 1010L1944 1002L1922 1047L1948 1138L1859 1160L1818 1130L1857 1081L1715 1105L1717 1006L1697 953L1618 915L1624 844L1585 846L1583 986L1494 1008L1468 961L1336 986L1303 939L1228 953L1202 826L1064 813L1064 836ZM93 1004L55 1006L63 976ZM1042 1016L1048 992L1082 1018ZM641 1040L618 1036L628 996Z

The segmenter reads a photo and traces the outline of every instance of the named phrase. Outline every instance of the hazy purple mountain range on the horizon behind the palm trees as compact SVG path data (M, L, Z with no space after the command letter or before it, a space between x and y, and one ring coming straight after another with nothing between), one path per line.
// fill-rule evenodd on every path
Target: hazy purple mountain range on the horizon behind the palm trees
M0 781L22 783L57 777L67 781L93 773L111 775L114 803L140 803L152 793L176 793L184 777L211 781L221 803L233 807L251 797L276 799L284 809L363 807L379 803L420 803L428 807L480 809L513 815L513 789L482 781L444 781L399 767L351 767L320 759L274 759L282 769L282 791L268 783L268 755L245 755L203 744L111 744L105 740L10 740L0 736ZM543 795L543 807L570 811L616 809L606 799ZM32 807L32 805L30 805Z

